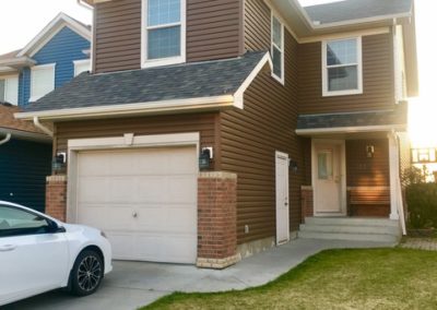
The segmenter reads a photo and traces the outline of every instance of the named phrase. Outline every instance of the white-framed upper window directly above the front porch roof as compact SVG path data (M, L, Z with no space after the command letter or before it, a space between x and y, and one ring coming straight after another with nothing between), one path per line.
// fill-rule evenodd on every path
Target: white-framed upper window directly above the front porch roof
M322 57L323 96L363 93L361 37L323 41Z

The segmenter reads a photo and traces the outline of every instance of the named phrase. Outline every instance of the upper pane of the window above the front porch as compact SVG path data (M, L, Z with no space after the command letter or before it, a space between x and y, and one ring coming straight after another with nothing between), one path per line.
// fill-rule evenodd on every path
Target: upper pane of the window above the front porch
M356 39L328 43L327 59L328 65L357 63Z

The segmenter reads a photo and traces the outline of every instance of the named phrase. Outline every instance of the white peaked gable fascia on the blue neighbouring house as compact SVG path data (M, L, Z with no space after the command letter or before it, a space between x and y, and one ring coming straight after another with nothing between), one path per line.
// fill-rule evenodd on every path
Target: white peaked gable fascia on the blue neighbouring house
M19 53L16 57L35 55L43 48L63 26L70 27L83 38L91 40L91 29L78 23L64 13L59 13L47 26L40 31Z

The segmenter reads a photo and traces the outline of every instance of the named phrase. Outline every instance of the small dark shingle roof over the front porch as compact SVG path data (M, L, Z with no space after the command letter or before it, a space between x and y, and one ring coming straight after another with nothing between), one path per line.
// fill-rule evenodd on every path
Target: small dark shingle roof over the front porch
M366 111L329 115L300 115L297 129L322 129L342 127L367 127L387 124L406 124L406 104L401 104L394 110Z

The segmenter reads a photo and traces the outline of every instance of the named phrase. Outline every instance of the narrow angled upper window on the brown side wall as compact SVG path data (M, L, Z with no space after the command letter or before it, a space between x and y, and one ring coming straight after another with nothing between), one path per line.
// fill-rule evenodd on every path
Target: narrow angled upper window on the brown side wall
M272 15L271 56L273 61L273 78L284 84L284 25Z

